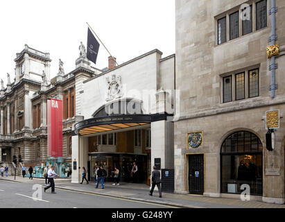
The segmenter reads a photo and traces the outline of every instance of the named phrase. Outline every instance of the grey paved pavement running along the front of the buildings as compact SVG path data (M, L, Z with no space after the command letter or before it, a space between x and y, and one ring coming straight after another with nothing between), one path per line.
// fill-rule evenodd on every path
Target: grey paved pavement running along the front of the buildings
M22 178L17 176L14 180L14 176L0 177L1 180L10 180L14 182L24 183L38 183L44 185L44 179ZM172 207L189 207L189 208L285 208L285 205L277 205L273 203L264 203L258 200L243 201L234 198L211 198L200 195L192 194L169 194L162 193L162 198L159 198L158 191L153 192L153 196L149 196L148 185L134 184L134 183L120 183L119 186L113 186L112 182L105 183L105 189L101 189L99 185L98 189L95 189L95 183L86 182L83 185L78 183L71 183L71 179L55 178L55 191L69 190L76 191L83 194L97 194L97 196L116 197L124 200L137 200L145 203L156 203L162 205L169 205ZM0 187L1 189L1 187Z

